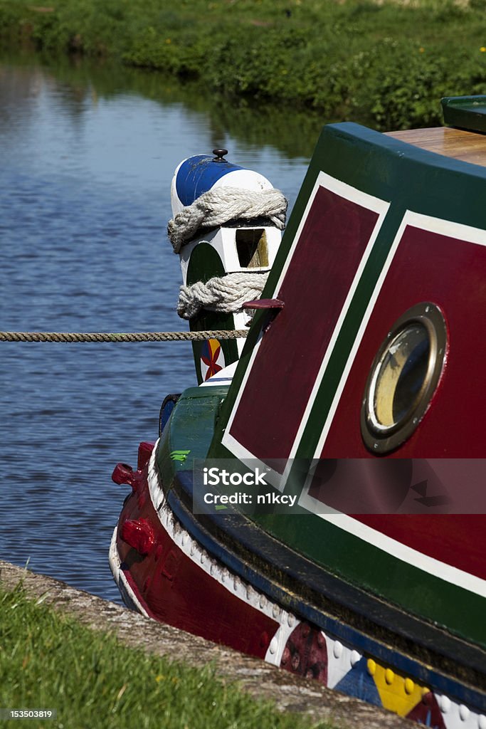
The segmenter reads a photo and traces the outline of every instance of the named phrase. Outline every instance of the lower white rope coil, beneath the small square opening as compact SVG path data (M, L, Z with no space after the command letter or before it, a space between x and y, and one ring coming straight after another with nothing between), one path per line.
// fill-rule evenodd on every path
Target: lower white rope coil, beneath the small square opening
M239 311L246 301L259 299L267 282L268 271L262 273L227 273L215 276L203 284L181 286L177 313L182 319L192 319L202 308L211 311Z

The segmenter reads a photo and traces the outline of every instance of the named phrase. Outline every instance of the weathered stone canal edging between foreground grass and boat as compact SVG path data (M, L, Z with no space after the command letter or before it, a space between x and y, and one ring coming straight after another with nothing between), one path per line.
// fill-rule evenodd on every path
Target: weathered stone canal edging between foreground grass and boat
M350 698L310 679L289 674L259 658L251 658L198 636L157 623L128 608L77 590L66 582L0 560L0 585L12 590L20 582L29 596L66 612L97 631L114 633L122 644L157 655L206 666L213 662L219 679L237 682L254 698L273 701L278 711L305 714L311 722L330 720L339 728L408 729L411 724L377 706Z

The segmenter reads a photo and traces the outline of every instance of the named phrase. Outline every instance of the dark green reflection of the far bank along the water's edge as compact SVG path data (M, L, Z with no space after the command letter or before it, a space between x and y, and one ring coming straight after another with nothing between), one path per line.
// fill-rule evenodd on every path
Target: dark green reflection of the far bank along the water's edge
M227 98L205 90L200 83L181 82L165 77L160 71L142 71L109 60L94 63L76 56L54 60L42 55L36 59L43 63L39 81L55 79L62 97L60 102L73 116L82 114L87 99L90 105L95 105L98 99L111 99L120 94L141 96L164 106L181 105L186 113L203 114L213 146L221 145L230 135L246 147L272 147L290 159L307 159L324 123L342 121L323 119L310 109L264 101L250 104L248 99ZM4 58L0 55L2 61L10 66L15 61L19 76L23 69L33 70L32 57L28 54L10 53Z

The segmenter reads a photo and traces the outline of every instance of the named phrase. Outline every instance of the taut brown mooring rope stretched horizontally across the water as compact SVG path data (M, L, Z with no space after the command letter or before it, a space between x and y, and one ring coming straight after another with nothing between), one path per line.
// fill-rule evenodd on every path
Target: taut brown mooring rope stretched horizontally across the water
M0 342L177 342L242 339L248 330L202 332L0 332Z

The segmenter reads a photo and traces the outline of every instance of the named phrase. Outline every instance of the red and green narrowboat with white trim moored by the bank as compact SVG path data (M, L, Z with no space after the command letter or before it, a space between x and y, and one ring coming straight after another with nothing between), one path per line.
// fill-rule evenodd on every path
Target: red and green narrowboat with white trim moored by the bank
M486 729L486 98L327 125L285 202L176 170L199 385L141 443L110 564L145 615L436 728Z

